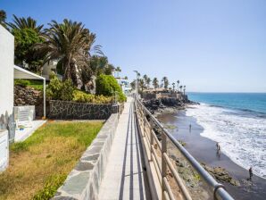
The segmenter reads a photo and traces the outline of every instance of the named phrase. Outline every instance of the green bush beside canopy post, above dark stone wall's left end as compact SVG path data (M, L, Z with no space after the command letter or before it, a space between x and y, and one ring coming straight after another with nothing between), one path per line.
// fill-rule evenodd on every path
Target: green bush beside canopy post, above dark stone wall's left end
M54 77L46 88L46 96L48 99L71 101L74 96L74 90L71 79L62 82L57 77Z

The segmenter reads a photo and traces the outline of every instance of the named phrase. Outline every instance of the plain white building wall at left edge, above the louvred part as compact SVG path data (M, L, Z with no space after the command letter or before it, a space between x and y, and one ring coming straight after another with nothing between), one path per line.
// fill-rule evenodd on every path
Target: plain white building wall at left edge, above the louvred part
M0 25L0 129L6 129L13 108L14 38Z

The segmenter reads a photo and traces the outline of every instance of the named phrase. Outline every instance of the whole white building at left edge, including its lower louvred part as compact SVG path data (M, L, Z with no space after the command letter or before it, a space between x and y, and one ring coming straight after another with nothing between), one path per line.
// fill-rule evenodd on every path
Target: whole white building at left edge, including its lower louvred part
M0 171L8 165L9 137L6 129L9 128L9 134L14 134L13 60L14 37L0 25Z

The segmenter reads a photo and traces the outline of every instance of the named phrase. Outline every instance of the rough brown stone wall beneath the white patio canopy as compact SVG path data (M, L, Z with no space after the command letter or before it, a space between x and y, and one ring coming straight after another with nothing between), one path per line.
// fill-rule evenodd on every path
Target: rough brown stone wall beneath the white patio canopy
M42 91L31 87L14 86L14 106L35 105L37 117L42 117L44 112L44 99ZM48 111L46 103L46 112Z

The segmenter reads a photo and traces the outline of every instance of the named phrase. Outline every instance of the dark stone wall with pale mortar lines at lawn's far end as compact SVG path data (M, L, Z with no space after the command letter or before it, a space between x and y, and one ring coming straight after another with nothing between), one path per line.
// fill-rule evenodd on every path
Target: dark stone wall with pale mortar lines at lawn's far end
M119 104L87 104L69 101L50 101L50 119L56 120L106 120L119 111Z

